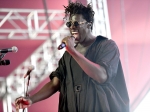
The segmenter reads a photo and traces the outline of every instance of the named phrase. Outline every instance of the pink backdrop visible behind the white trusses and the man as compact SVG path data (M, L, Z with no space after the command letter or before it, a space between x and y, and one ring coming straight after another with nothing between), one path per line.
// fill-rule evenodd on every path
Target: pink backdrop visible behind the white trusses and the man
M68 0L47 0L47 2L48 9L63 9L62 5L68 4ZM82 2L86 3L85 0ZM1 0L0 8L43 9L43 4L42 0ZM131 110L150 89L149 11L149 0L108 0L111 35L120 49ZM0 40L0 48L13 45L19 48L17 54L10 53L5 56L11 60L11 65L0 67L0 77L7 77L43 42L42 40ZM47 78L41 82L31 94L48 81ZM32 105L29 107L29 112L57 112L57 107L58 93L45 101ZM2 112L2 102L0 102L0 112Z

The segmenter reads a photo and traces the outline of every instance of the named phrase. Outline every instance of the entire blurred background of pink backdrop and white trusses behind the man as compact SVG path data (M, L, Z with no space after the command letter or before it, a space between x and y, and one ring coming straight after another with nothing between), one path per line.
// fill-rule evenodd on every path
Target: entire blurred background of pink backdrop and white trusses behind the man
M57 46L69 35L63 20L63 5L69 1L76 0L0 0L0 50L18 48L16 53L0 54L0 112L15 112L14 100L27 90L24 74L31 65L35 69L29 95L50 81L49 74L64 52ZM131 112L150 112L150 0L77 1L93 5L93 34L118 45ZM10 64L3 65L3 60ZM57 112L58 96L57 92L26 111Z

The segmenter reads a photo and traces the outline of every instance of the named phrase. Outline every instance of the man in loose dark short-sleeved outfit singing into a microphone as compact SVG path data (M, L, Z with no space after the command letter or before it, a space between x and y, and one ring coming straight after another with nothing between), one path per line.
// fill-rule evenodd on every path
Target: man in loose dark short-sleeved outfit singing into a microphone
M26 108L59 91L59 112L129 112L115 42L92 35L94 11L90 4L85 7L71 2L65 7L65 13L69 15L66 25L71 36L62 40L66 52L58 68L39 92L29 98L17 98L16 109Z

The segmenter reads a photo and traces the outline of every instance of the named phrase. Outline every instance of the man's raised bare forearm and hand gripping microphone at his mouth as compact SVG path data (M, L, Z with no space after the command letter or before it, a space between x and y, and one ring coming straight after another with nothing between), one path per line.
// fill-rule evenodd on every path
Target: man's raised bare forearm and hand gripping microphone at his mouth
M76 60L82 70L89 77L93 78L99 83L104 83L107 80L107 73L104 67L88 60L86 57L84 57L84 55L74 48L74 38L67 37L64 42L66 43L67 52L69 52L69 54Z

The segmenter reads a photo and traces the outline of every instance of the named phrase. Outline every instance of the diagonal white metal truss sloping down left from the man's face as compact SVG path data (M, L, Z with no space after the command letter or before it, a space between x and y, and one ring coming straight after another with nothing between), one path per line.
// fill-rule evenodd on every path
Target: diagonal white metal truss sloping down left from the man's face
M64 37L59 31L65 29L63 24L57 33L51 36L51 39L47 39L34 53L28 57L21 65L19 65L7 78L7 95L11 97L12 110L15 112L14 100L19 96L24 96L27 88L27 78L24 75L28 71L28 68L33 65L35 69L31 72L30 84L28 91L31 91L39 85L44 79L46 79L52 71L57 67L57 62L62 56L64 50L56 48L61 43L61 38ZM68 32L68 30L66 30ZM69 33L69 32L68 32ZM7 97L4 96L4 98ZM5 102L6 102L5 100ZM6 104L6 103L5 103ZM7 103L8 104L8 103Z

